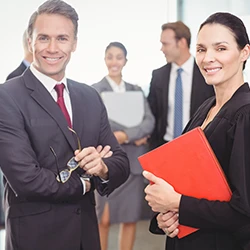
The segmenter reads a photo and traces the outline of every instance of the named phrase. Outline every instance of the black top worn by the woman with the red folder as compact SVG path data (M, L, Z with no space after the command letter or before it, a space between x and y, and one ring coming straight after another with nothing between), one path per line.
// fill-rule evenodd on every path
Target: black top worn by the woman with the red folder
M215 104L209 98L184 133L201 126ZM180 224L200 228L182 239L168 238L167 250L250 249L250 90L242 85L204 130L232 190L230 202L182 196ZM159 233L155 219L150 230Z

